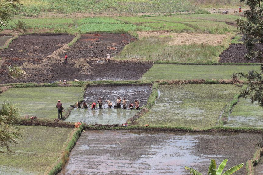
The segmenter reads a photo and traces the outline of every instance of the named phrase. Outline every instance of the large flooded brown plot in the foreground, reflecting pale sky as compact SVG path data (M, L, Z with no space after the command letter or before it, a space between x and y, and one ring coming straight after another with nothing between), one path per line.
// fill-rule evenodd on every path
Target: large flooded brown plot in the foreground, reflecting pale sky
M210 159L225 169L246 163L260 134L152 131L87 131L70 153L65 174L189 174L184 166L207 173ZM236 175L246 174L242 168Z

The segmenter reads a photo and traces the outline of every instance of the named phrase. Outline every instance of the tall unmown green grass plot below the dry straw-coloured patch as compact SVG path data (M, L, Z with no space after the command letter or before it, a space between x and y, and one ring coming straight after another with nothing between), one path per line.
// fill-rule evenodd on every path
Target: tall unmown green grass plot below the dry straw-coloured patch
M218 62L224 46L207 44L168 45L171 37L148 37L132 42L124 47L116 59L138 58L139 60L158 60L191 63Z

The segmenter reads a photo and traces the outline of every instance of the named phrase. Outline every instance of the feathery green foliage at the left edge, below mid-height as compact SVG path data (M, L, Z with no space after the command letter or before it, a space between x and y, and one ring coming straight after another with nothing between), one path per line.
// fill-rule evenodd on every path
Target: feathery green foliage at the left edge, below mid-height
M14 126L19 124L19 110L8 102L2 104L0 108L0 146L4 148L0 153L11 152L10 144L17 144L22 137L19 128Z

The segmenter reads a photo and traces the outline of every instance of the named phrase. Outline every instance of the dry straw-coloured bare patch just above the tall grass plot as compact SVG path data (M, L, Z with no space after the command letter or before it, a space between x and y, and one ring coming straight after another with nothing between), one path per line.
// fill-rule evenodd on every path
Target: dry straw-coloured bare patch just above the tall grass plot
M220 45L228 37L227 35L219 34L200 34L200 33L168 33L164 31L159 32L137 32L139 38L149 36L172 36L173 40L168 42L169 45L183 45L183 44L210 44Z

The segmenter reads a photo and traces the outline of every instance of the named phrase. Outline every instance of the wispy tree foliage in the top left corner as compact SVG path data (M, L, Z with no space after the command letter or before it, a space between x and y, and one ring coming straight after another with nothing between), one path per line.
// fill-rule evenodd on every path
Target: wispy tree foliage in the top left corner
M0 31L7 27L15 12L22 6L19 0L0 0ZM20 20L12 26L12 32L26 32L26 29L25 22Z

